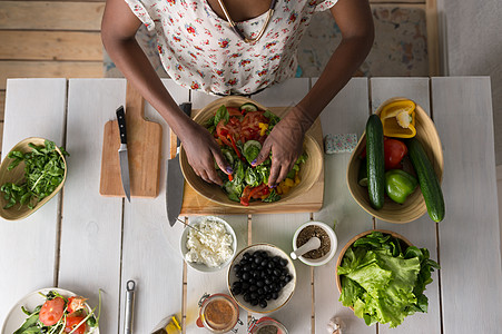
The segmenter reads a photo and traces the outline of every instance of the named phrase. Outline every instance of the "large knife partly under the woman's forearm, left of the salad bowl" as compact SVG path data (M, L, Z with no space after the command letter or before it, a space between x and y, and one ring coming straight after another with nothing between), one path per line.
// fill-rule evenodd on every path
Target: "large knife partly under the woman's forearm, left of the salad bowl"
M191 104L185 102L179 108L188 117L191 114ZM185 188L185 178L179 166L179 138L176 140L176 157L168 159L166 163L167 180L166 180L166 209L169 225L174 226L181 212L183 193Z

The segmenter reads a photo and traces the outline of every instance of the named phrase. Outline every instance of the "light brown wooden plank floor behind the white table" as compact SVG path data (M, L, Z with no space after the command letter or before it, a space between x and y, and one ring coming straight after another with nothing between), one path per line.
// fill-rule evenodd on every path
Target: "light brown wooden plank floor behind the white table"
M425 8L427 35L437 36L431 22L435 0L371 0ZM0 147L8 78L99 78L104 76L100 39L104 0L0 0ZM431 30L431 31L429 31ZM429 38L430 56L437 38ZM437 57L432 57L437 59ZM439 69L432 62L431 73Z

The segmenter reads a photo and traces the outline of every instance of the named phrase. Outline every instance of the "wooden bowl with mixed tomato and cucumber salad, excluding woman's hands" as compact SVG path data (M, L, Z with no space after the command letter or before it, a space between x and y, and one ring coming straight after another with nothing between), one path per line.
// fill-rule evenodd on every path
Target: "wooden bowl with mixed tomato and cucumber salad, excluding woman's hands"
M225 117L228 118L228 126L223 127L220 120ZM303 157L294 167L296 170L292 170L277 188L270 189L266 186L263 180L268 179L267 163L258 166L259 168L250 168L249 163L259 153L260 144L279 118L252 99L237 96L220 98L201 109L194 120L214 134L234 170L230 183L229 178L219 171L224 187L208 184L195 174L181 145L179 163L186 181L196 193L214 203L240 209L280 206L311 189L321 175L321 147L312 136L306 135ZM220 126L217 126L218 124Z

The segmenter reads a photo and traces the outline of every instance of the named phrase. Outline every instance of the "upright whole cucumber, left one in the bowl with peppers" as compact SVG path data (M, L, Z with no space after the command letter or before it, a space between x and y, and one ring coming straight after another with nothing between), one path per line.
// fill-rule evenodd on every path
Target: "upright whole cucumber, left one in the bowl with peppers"
M373 208L381 209L385 200L384 131L377 115L366 122L367 193Z

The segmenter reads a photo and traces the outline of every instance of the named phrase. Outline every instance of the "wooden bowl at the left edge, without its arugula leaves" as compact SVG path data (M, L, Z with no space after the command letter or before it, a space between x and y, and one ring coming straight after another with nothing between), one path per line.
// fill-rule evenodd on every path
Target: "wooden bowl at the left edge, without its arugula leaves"
M22 153L29 153L31 151L31 147L28 146L28 144L32 143L37 146L43 146L46 139L43 138L27 138L21 141L19 141L10 151L19 150ZM67 163L65 159L65 156L61 154L58 147L56 147L56 150L61 156L63 163L65 163L65 176L62 178L62 181L59 184L59 186L50 194L49 196L45 197L42 200L37 203L37 205L30 209L27 205L14 205L8 209L3 208L7 205L7 200L3 198L3 193L0 194L0 216L3 219L7 220L19 220L24 219L26 217L33 214L36 210L38 210L42 205L45 205L47 202L49 202L52 197L58 194L59 190L61 190L66 177L67 177ZM10 153L9 151L9 153ZM2 164L0 165L0 187L6 183L13 183L18 184L21 183L24 179L24 161L21 161L16 168L8 170L10 163L12 163L13 159L9 158L9 155L6 155L6 158L3 159Z

